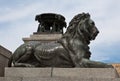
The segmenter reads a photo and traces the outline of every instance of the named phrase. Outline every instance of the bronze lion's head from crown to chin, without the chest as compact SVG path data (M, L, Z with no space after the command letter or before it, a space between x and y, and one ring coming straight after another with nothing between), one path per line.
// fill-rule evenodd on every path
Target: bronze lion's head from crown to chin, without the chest
M99 33L93 20L90 19L89 13L78 14L70 21L65 37L79 37L84 42L88 43L94 40Z

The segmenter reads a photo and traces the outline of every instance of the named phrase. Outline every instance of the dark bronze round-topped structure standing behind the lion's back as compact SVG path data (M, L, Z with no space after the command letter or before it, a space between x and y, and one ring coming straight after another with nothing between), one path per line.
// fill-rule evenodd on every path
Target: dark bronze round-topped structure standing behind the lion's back
M44 13L36 15L35 20L39 22L37 33L63 33L66 27L65 18L60 14Z

